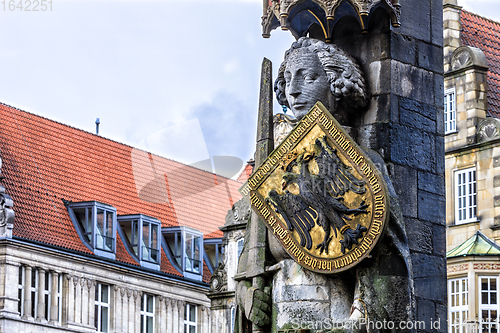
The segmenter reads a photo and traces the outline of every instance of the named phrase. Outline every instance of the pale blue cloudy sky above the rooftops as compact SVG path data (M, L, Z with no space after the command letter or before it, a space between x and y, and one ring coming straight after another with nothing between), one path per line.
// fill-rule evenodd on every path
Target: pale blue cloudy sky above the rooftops
M261 37L262 0L12 2L0 2L1 102L92 133L99 118L103 137L187 164L216 158L226 176L253 156L262 59L275 78L294 40ZM458 0L500 21L497 2Z

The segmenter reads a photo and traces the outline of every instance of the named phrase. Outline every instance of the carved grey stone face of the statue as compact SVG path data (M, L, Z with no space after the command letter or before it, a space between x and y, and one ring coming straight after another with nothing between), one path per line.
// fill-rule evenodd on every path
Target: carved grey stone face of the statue
M295 118L302 118L318 101L327 109L334 106L328 77L316 53L296 50L288 58L284 77L285 96Z

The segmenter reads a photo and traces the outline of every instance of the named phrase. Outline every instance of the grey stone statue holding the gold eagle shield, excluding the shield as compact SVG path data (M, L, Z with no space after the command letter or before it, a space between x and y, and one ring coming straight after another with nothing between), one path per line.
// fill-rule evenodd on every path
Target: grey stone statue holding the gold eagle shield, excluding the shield
M336 45L306 37L286 51L275 92L279 103L295 116L275 117L275 147L318 101L355 137L350 120L368 103L365 80L356 61ZM389 226L371 258L346 272L315 273L297 264L268 230L267 286L259 289L245 275L252 265L247 253L250 237L246 235L238 264L236 297L240 315L236 331L249 332L252 323L254 330L256 325L262 332L299 332L329 330L349 320L409 319L412 279L404 221L383 159L369 149L364 152L379 168L390 195ZM342 329L377 331L368 325Z

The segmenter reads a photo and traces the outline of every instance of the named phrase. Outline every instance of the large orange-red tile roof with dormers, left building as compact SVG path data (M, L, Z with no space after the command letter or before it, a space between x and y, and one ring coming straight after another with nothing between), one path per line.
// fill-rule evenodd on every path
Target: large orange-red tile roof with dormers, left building
M119 215L142 213L162 227L222 237L218 227L241 198L239 182L1 103L0 121L3 184L14 200L13 234L20 238L92 254L63 199L95 200ZM137 265L119 236L116 260ZM164 253L161 270L180 275Z

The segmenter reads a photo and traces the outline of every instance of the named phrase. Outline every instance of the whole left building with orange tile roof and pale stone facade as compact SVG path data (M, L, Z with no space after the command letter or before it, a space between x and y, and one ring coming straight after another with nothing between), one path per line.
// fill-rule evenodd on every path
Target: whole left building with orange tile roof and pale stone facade
M0 331L209 332L241 183L4 104L0 119L15 212L0 214Z

